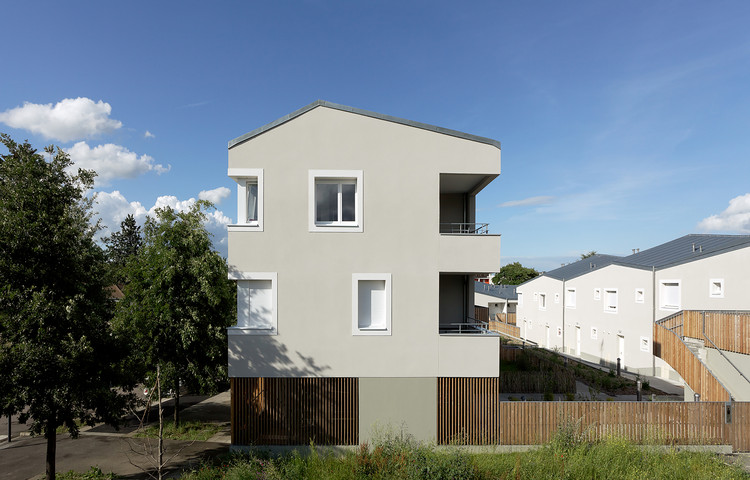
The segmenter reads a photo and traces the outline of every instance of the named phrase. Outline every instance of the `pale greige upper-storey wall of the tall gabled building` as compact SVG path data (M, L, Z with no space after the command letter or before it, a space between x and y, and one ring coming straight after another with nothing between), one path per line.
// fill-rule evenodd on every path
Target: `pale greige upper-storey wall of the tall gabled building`
M499 149L318 107L231 148L229 168L264 177L263 231L230 228L230 268L278 275L278 335L230 336L230 376L473 376L475 362L497 374L492 341L440 341L438 293L440 265L497 271L500 237L438 232L440 174L494 177ZM311 169L362 171L362 232L309 231ZM352 335L354 273L391 274L391 335Z

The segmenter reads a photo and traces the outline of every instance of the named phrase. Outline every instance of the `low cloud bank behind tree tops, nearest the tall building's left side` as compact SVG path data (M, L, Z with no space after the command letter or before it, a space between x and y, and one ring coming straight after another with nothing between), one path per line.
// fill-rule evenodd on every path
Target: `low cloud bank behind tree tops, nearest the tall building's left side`
M110 193L97 192L95 202L96 211L99 213L102 227L104 227L100 232L100 236L103 237L109 235L112 231L119 230L120 223L128 214L132 214L136 221L143 225L146 217L155 216L156 210L159 208L171 207L178 212L182 212L189 210L197 200L192 197L187 200L180 200L174 195L163 195L157 198L154 205L147 209L141 202L129 202L122 193L115 190ZM213 235L214 248L226 257L227 225L232 223L232 220L220 210L212 210L207 212L206 215L205 227Z

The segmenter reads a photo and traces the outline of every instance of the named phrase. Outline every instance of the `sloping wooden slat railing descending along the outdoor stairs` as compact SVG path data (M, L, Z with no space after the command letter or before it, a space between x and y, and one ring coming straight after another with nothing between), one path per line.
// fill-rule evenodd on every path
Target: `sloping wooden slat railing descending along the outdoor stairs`
M685 380L690 388L700 394L701 400L727 401L729 392L713 376L706 365L688 349L675 330L679 329L681 314L654 324L654 355L663 359ZM671 328L671 329L670 329ZM683 327L684 328L684 324Z

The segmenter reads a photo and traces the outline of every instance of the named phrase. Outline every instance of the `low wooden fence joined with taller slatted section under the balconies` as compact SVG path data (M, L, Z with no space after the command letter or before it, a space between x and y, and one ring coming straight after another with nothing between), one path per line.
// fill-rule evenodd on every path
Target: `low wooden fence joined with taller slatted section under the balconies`
M587 441L620 436L645 444L750 450L747 402L493 403L498 395L495 378L439 378L438 444L538 445L568 424Z

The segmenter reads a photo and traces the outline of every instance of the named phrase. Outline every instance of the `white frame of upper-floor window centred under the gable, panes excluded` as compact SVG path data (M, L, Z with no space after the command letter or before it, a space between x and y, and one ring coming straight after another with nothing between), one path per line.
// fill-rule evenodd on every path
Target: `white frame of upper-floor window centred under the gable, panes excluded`
M310 232L362 232L364 229L364 174L362 170L309 170L308 171L308 229ZM316 219L315 193L318 182L337 183L338 213L342 212L341 187L344 181L353 181L354 188L354 221L339 220L333 223L321 223Z

